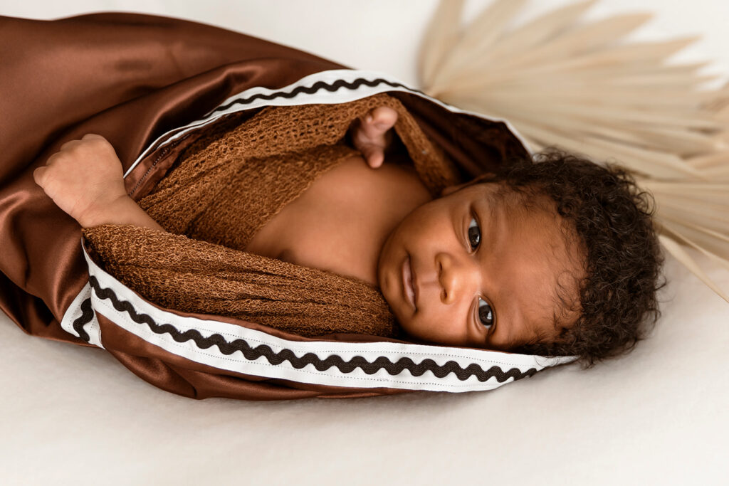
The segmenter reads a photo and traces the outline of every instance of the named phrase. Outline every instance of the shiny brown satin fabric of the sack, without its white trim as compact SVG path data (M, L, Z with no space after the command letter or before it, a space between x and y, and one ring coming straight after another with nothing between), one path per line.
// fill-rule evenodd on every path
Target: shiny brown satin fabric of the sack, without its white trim
M98 133L117 150L126 171L158 136L202 117L235 93L284 87L343 68L222 28L126 13L52 21L0 17L0 63L0 308L28 334L81 345L87 343L59 324L88 280L81 227L34 183L34 168L66 141ZM456 163L461 179L528 154L502 122L456 115L410 93L390 94ZM183 146L155 160L144 157L125 178L131 197L149 194ZM302 385L191 366L160 358L155 346L134 342L103 315L98 321L109 353L149 383L184 396L297 399L399 392Z

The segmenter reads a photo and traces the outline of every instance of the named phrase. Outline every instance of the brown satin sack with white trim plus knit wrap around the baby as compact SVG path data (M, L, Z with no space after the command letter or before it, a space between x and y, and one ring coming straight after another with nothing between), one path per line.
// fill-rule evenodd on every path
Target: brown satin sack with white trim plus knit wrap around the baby
M0 78L9 90L23 84L4 104L0 130L0 308L29 334L104 348L141 379L195 399L491 390L569 361L367 334L312 339L254 324L270 313L268 324L308 335L342 326L389 332L354 327L391 319L376 289L241 252L317 173L345 157L337 142L354 117L392 106L375 95L389 93L412 114L396 108L396 130L434 195L452 171L420 129L466 179L529 157L507 121L445 105L387 74L184 20L100 13L0 23L11 47ZM346 104L353 100L362 101ZM218 125L224 120L246 125L234 132ZM34 174L88 133L114 147L125 191L171 233L96 227L82 244L78 222ZM330 165L318 146L335 157ZM276 157L286 164L278 175Z

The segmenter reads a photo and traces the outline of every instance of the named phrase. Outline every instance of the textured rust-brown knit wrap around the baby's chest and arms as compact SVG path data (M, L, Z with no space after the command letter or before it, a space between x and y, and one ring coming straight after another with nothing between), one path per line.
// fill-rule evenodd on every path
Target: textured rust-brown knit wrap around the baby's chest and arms
M268 107L232 130L225 123L208 128L139 200L168 232L105 224L83 231L87 246L107 272L163 307L307 337L392 336L394 316L376 286L243 251L317 177L357 153L343 138L354 119L377 106L398 111L395 130L433 195L456 181L455 168L387 95Z

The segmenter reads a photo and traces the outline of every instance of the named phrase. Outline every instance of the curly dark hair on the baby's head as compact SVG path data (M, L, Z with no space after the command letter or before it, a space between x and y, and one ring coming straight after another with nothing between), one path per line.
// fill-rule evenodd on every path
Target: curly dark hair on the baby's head
M586 273L577 279L577 321L564 325L555 315L555 329L561 328L557 342L529 342L513 351L576 355L583 368L590 368L632 350L655 325L657 291L665 285L652 196L622 168L553 147L532 160L511 160L489 179L503 181L506 190L553 200L585 253ZM570 305L564 294L558 300Z

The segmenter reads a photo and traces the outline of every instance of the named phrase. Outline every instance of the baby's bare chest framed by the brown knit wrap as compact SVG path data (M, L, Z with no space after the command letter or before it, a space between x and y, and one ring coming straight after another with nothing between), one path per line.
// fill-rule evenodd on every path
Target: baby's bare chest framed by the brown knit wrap
M273 216L246 251L376 284L387 236L430 199L411 166L372 169L351 157Z

